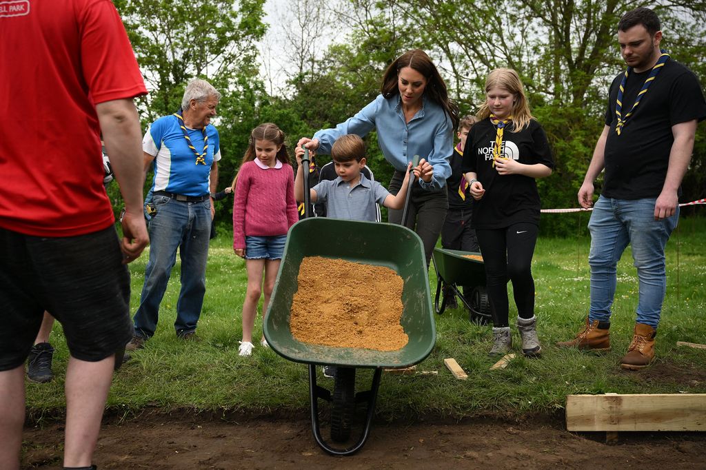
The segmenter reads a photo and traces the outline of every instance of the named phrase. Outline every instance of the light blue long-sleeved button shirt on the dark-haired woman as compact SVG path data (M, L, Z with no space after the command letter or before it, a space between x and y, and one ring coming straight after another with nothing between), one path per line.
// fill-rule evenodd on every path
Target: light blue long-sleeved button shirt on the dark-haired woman
M398 171L405 171L414 155L426 159L434 168L431 182L419 180L422 188L438 190L451 176L448 157L453 153L453 126L443 108L422 95L421 109L411 121L405 122L400 95L376 99L355 116L335 128L322 129L313 135L319 140L318 152L330 154L331 146L342 135L357 134L364 137L375 129L378 145L385 159Z

